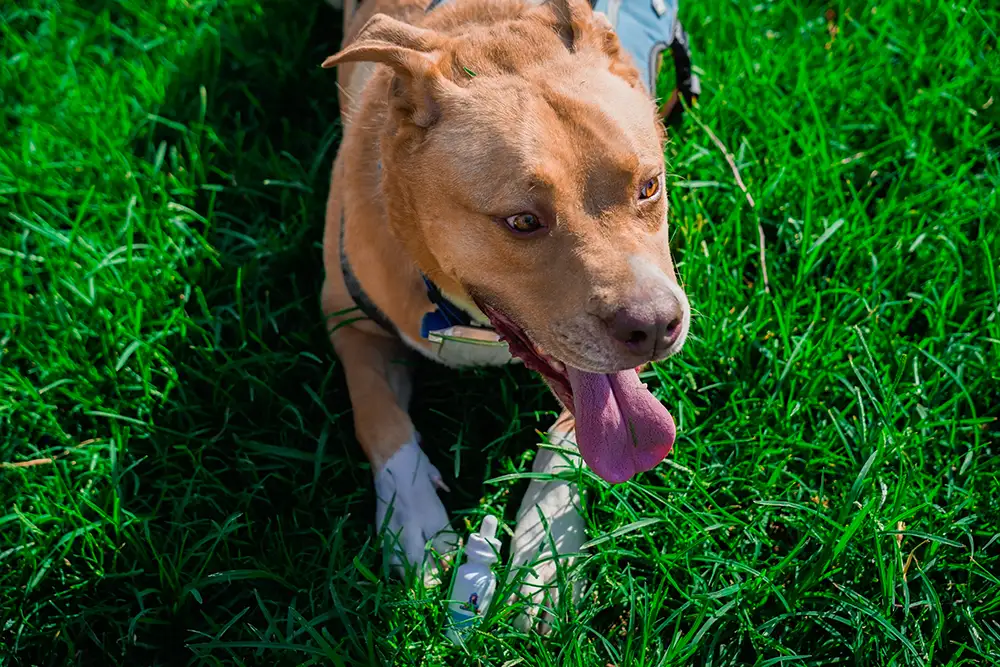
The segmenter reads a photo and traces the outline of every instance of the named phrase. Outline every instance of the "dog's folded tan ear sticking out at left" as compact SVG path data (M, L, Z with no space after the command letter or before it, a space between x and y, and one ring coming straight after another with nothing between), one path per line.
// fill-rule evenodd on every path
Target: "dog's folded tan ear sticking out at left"
M390 111L400 120L428 128L440 115L441 97L461 90L441 67L446 39L432 30L376 14L347 48L323 61L323 67L350 62L388 65L395 73L389 88Z

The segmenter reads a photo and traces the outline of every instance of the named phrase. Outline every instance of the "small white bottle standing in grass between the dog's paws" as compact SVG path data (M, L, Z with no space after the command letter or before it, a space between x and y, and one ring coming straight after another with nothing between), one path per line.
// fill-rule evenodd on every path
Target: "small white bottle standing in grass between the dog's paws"
M448 639L461 644L493 601L497 578L491 566L500 557L500 540L496 538L497 518L483 517L478 533L469 535L465 547L465 563L455 573L448 596Z

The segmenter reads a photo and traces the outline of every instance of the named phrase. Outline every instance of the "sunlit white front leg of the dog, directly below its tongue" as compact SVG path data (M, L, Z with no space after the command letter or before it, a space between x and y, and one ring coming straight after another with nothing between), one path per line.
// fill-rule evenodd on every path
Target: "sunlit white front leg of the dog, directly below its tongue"
M534 472L555 475L579 469L582 460L573 433L550 432L549 442L560 449L539 448L532 466ZM534 626L547 633L553 614L560 608L560 588L570 586L571 602L579 602L583 581L571 566L572 555L580 553L585 542L585 529L575 484L563 479L531 481L521 501L511 545L510 576L523 577L514 599L527 603L527 609L514 622L519 629L527 631Z

